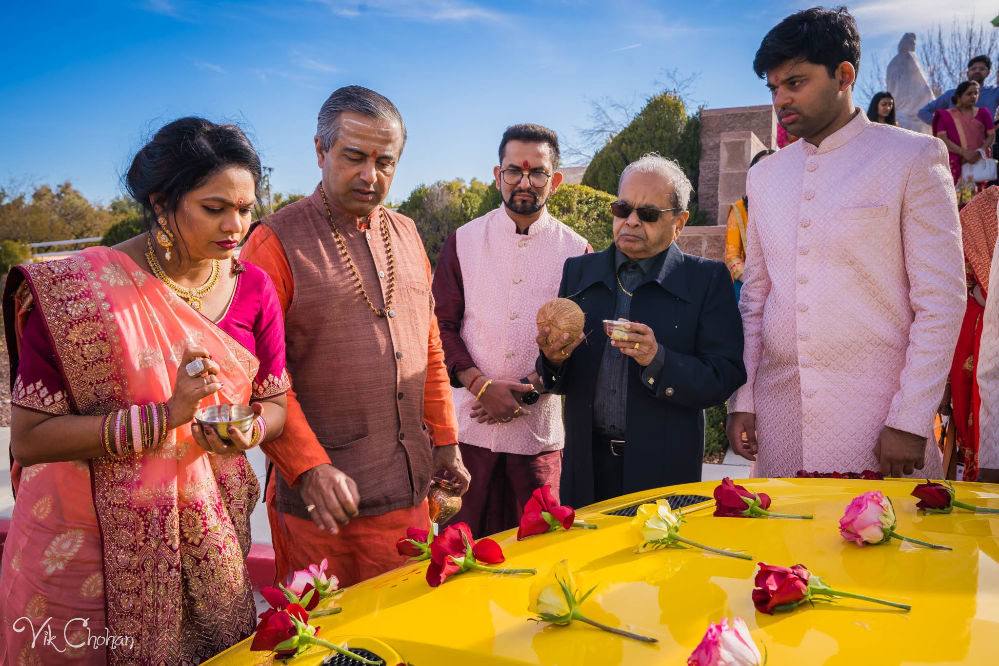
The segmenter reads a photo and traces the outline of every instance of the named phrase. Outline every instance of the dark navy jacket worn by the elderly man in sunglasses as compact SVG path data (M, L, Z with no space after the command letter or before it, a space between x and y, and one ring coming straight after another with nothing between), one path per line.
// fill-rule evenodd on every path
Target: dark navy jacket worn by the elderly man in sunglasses
M588 337L558 371L543 354L537 358L545 388L565 395L560 498L571 506L593 501L593 394L601 389L596 375L606 346L601 322L613 319L617 289L613 246L566 260L558 296L585 313ZM742 320L723 264L685 255L674 243L633 294L629 319L652 329L665 358L650 386L642 385L644 368L628 359L625 493L699 481L703 410L746 380Z

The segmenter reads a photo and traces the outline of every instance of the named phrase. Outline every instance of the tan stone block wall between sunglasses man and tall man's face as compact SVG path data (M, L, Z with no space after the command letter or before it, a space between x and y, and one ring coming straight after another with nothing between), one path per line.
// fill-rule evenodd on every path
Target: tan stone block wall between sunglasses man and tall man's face
M776 142L777 117L769 104L701 111L697 202L708 224L725 224L728 205L745 194L749 160Z

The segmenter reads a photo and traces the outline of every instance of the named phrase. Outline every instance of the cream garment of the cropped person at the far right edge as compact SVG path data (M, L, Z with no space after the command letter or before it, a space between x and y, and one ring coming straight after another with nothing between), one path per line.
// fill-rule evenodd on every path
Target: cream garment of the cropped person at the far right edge
M999 206L997 206L999 208ZM999 215L999 210L996 211ZM990 276L999 276L999 252L992 254ZM999 469L999 289L991 289L982 316L978 347L978 468ZM972 479L973 480L973 479Z

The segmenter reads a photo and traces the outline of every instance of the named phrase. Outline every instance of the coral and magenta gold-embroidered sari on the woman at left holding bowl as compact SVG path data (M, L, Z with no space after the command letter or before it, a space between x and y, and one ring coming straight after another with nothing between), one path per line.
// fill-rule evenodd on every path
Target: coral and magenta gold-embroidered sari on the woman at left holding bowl
M274 287L247 269L215 325L115 250L19 267L4 301L14 404L103 414L165 400L195 343L224 383L202 404L284 392ZM22 281L30 312L15 303ZM46 359L55 376L38 369ZM196 664L253 631L245 557L260 487L243 453L209 456L184 425L152 451L14 464L11 475L0 663Z

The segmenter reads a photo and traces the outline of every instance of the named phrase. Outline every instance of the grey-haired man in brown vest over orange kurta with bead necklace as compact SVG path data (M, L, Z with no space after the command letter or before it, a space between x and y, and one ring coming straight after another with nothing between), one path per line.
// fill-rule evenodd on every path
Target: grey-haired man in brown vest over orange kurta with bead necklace
M316 192L261 221L242 257L274 280L296 389L264 448L278 579L329 557L346 586L402 564L399 535L430 527L436 469L466 488L469 474L430 262L413 221L382 206L406 145L399 110L341 88L315 143Z

